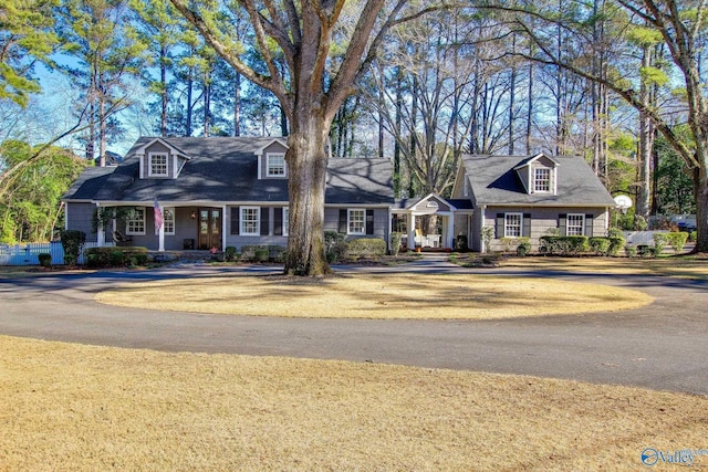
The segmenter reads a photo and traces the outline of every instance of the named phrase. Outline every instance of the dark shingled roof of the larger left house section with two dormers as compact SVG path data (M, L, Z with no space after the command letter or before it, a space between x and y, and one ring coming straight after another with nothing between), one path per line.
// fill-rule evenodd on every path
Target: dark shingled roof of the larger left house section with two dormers
M114 168L90 168L64 195L65 200L147 202L288 201L287 179L258 180L256 151L272 137L159 138L189 156L176 179L139 178L136 150L156 139L142 137ZM393 203L388 159L330 159L326 203Z

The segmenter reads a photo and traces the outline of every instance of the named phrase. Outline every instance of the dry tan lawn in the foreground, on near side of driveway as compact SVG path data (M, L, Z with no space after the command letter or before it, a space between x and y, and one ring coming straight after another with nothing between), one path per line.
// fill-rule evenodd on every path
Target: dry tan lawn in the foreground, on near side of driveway
M0 336L0 431L3 471L636 471L708 449L708 397Z

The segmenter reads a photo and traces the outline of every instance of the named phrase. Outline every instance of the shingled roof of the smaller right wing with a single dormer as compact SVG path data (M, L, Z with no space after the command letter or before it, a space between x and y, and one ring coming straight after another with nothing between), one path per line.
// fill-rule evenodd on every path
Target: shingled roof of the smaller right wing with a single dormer
M582 157L553 156L558 195L527 193L514 168L528 156L465 155L462 165L477 204L614 207L612 196Z

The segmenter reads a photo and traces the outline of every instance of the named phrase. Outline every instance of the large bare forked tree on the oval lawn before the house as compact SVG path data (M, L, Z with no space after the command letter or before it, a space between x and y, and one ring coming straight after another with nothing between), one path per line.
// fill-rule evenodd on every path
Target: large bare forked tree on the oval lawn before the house
M285 272L322 275L330 272L324 258L324 188L329 159L329 134L340 106L355 92L355 83L368 70L386 33L412 18L435 9L417 9L398 0L238 0L219 2L219 14L246 13L254 29L249 46L262 56L262 67L248 65L228 28L215 21L215 3L171 0L181 14L233 69L249 81L271 91L280 101L291 126L288 139L290 237ZM343 15L354 28L345 34ZM342 54L334 56L333 38ZM285 66L278 67L277 57Z

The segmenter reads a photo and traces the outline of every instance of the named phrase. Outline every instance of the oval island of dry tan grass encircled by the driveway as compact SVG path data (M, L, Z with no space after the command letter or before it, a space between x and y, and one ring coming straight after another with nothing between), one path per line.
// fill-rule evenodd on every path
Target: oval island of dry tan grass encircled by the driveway
M494 319L644 306L638 291L551 279L355 274L326 279L220 276L129 283L102 303L195 313L327 318Z

